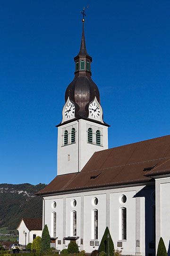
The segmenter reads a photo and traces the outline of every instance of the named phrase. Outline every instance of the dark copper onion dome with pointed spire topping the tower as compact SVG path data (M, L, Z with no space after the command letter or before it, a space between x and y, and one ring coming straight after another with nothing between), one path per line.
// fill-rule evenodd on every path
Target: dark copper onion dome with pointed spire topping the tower
M65 101L69 99L75 103L75 117L77 119L88 117L88 106L93 99L97 98L100 103L100 94L97 85L91 78L91 62L92 57L88 55L85 46L84 22L81 38L81 46L78 55L74 58L76 63L75 78L68 85L65 93Z

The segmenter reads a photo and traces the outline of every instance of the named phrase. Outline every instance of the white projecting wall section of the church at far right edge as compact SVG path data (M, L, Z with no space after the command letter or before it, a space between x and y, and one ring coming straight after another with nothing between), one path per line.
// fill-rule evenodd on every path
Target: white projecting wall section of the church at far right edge
M160 237L170 255L170 177L155 179L156 193L156 252Z

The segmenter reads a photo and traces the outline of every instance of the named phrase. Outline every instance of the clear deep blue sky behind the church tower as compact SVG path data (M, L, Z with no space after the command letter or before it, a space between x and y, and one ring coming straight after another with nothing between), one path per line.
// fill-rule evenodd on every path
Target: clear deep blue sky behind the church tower
M50 183L82 17L109 147L170 134L169 0L0 3L0 183Z

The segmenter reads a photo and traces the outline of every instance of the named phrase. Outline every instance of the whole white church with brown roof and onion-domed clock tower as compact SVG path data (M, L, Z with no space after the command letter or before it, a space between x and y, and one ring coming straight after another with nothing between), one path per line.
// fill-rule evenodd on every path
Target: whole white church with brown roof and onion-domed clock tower
M58 175L42 191L42 229L58 250L76 240L98 249L106 227L122 255L154 256L162 237L170 255L170 136L108 149L109 125L91 78L83 32L75 77L58 128Z

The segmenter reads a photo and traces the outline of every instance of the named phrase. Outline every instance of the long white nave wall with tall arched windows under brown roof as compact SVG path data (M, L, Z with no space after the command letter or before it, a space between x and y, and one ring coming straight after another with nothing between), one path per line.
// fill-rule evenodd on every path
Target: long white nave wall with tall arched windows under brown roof
M57 234L56 247L59 250L68 247L69 241L63 244L63 238L73 236L72 212L76 211L76 236L79 237L76 242L80 250L91 253L98 249L106 226L110 229L110 234L115 248L122 248L123 255L146 255L153 253L153 249L145 251L145 235L149 236L147 247L151 239L151 195L154 189L151 186L134 186L127 188L115 188L101 191L77 192L64 195L55 195L44 197L45 199L45 224L48 225L50 235L51 213L53 201L57 206ZM127 201L123 203L121 196L125 195ZM98 199L97 205L94 204L94 198ZM76 200L76 206L73 205ZM127 239L121 239L121 208L127 209ZM98 239L94 239L94 221L93 210L98 210ZM148 219L148 230L145 230L145 219ZM53 225L53 224L52 224ZM81 244L81 238L83 244ZM61 245L58 245L61 240ZM136 247L136 240L139 240L139 247ZM122 242L122 247L118 247L118 242Z

